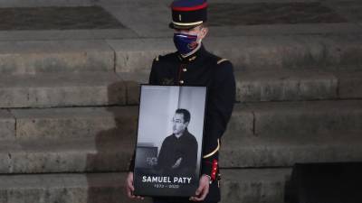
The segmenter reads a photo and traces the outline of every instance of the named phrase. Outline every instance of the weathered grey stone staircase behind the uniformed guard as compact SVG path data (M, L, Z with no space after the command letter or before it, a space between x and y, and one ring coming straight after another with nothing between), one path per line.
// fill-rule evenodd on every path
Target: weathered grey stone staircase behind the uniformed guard
M278 26L233 36L211 27L205 41L233 61L237 82L220 155L224 203L284 202L295 162L362 161L360 25L287 34ZM63 34L0 38L0 203L133 202L123 190L138 84L174 45L164 36Z

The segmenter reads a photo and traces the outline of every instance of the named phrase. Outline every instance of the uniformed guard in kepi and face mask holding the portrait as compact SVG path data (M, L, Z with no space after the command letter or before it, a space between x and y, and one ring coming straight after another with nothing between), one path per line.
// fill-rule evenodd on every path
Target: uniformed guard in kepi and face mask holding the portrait
M205 133L201 178L191 198L154 198L155 203L220 201L219 150L235 99L233 65L205 50L202 43L208 29L205 0L176 0L171 5L176 52L158 56L152 63L151 85L207 87ZM129 164L126 189L132 196L134 159Z

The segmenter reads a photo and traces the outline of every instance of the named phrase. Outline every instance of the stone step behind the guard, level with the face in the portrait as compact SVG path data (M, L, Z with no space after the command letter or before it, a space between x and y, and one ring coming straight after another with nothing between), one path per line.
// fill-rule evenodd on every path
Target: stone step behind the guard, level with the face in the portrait
M136 135L138 106L11 109L2 111L3 140ZM362 100L236 104L226 134L290 137L362 130Z

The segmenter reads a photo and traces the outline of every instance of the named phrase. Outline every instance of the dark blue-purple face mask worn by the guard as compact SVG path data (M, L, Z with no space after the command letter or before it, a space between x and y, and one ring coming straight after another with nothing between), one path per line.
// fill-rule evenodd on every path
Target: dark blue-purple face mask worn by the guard
M186 55L197 47L197 35L175 33L174 43L179 53Z

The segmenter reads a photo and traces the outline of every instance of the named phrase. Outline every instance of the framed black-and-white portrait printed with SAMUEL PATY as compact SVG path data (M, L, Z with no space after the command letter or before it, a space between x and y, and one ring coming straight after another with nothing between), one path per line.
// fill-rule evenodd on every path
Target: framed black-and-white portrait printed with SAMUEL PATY
M135 195L195 195L200 176L205 101L205 87L141 86Z

